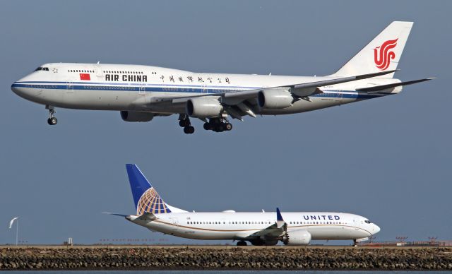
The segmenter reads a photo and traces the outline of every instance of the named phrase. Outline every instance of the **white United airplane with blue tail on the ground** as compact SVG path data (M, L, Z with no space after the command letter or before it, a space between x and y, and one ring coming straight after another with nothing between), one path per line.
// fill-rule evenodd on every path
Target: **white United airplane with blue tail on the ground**
M201 240L233 240L237 246L308 245L311 240L367 240L380 227L369 219L350 213L276 212L238 213L189 212L168 205L141 170L126 164L136 214L107 213L126 218L148 230L176 237Z

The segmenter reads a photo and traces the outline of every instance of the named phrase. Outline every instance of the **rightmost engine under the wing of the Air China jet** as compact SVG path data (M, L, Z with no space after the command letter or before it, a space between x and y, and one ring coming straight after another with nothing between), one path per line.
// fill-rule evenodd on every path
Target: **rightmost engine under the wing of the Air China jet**
M257 102L262 109L285 109L292 105L294 97L287 90L261 90Z

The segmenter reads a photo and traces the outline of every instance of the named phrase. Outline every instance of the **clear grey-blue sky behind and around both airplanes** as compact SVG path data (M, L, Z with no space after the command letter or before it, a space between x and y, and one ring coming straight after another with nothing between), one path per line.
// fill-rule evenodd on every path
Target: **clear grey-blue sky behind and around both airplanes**
M102 214L135 213L126 163L186 210L356 213L381 227L377 241L452 239L451 10L451 1L1 1L0 244L14 242L16 216L28 244L203 243ZM186 135L175 115L128 123L73 109L57 109L49 126L44 106L11 91L49 62L328 75L393 20L415 22L396 78L438 79L234 120L223 133L194 120Z

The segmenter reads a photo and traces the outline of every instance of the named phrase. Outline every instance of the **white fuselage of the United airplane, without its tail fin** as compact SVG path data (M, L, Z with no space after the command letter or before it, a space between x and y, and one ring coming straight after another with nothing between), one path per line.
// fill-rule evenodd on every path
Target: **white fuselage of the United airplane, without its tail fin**
M149 230L189 239L249 239L249 235L274 224L276 213L165 213L157 220L130 219ZM287 231L307 230L314 240L362 239L379 232L366 218L350 213L283 213Z

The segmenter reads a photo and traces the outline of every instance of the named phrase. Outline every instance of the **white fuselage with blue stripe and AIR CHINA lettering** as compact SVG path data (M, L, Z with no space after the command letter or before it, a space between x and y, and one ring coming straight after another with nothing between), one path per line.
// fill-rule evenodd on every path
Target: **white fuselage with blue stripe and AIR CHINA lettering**
M280 85L328 80L332 76L270 76L232 73L193 73L156 66L114 64L44 64L38 71L11 86L27 100L52 107L185 113L184 106L154 104L159 98L215 95L241 90L256 90ZM372 78L322 87L323 93L297 100L283 109L254 109L256 114L293 114L343 105L398 93L359 93L357 87L394 83L392 78ZM370 81L370 82L369 82Z

